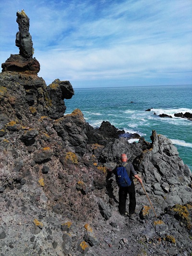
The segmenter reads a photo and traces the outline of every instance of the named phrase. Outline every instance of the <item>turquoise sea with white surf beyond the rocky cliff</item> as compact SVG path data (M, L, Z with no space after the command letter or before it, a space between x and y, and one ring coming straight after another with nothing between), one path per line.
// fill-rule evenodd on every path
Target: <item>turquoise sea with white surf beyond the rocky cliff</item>
M86 122L98 128L108 121L151 142L152 130L169 138L192 171L192 121L174 113L192 113L192 85L76 88L65 100L65 114L80 109ZM151 111L145 111L151 109ZM162 118L159 114L172 118ZM138 140L130 140L138 142Z

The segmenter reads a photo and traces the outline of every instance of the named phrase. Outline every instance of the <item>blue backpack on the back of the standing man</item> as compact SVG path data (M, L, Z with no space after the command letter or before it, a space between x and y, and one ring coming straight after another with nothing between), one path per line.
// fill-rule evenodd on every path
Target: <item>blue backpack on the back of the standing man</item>
M117 173L115 176L116 176L116 182L119 187L129 187L132 184L132 181L130 180L130 177L127 174L127 170L125 166L117 167Z

